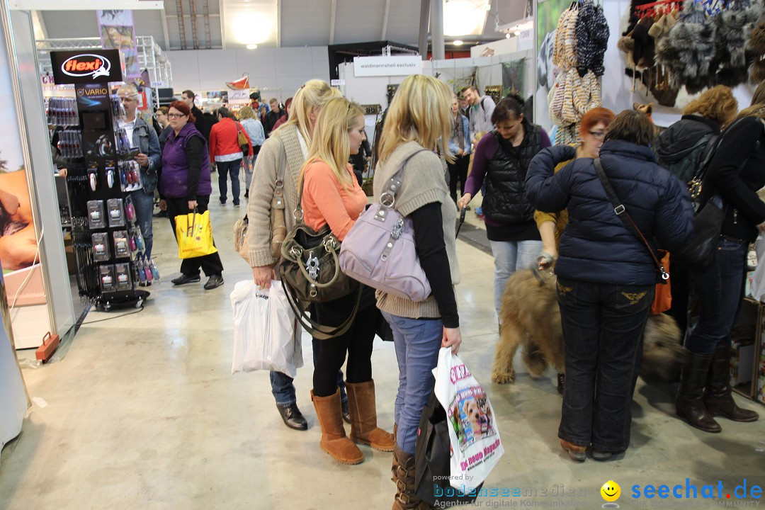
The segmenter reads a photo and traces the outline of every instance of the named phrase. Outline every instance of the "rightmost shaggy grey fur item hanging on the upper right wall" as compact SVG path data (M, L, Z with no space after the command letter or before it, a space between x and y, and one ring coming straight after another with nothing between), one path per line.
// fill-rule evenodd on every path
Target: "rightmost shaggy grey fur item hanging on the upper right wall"
M759 15L750 0L735 0L731 8L713 18L717 31L717 83L737 86L749 77L747 41Z

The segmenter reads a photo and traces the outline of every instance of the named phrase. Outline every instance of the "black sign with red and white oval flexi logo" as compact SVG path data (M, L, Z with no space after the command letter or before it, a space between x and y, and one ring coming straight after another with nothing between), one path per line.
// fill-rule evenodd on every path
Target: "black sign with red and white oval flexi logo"
M51 51L50 61L57 85L122 81L119 50Z

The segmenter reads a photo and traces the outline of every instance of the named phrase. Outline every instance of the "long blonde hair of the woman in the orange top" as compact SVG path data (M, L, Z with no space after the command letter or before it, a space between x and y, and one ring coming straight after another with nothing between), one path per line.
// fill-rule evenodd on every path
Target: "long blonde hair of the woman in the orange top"
M330 99L324 105L314 125L314 136L311 138L308 158L300 169L301 183L305 168L311 164L311 161L318 159L329 165L343 190L348 190L347 184L350 184L350 174L347 170L350 156L348 133L356 119L359 116L363 118L363 115L364 112L358 103L348 101L344 97Z

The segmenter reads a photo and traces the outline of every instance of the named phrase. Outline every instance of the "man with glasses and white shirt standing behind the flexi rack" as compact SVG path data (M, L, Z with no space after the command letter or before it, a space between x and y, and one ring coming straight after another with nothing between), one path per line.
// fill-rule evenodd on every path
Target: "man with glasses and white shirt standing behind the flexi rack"
M135 85L126 83L119 87L117 95L122 99L122 105L125 106L125 120L119 121L119 127L125 129L131 147L138 149L138 154L135 155L134 159L140 167L142 188L131 191L130 197L146 245L146 258L151 258L151 246L154 244L151 218L154 214L154 190L157 188L158 181L157 171L161 162L159 138L155 129L136 115L138 112L138 89L135 88ZM151 282L147 283L147 285L149 284Z

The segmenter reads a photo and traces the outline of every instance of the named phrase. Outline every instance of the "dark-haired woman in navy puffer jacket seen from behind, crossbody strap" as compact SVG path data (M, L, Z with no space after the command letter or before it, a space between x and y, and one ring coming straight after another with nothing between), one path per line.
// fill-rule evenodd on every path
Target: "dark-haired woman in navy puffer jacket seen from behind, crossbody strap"
M572 460L608 460L630 446L632 395L643 328L653 301L653 256L614 213L596 164L655 250L670 251L693 235L693 208L679 180L654 162L653 124L632 110L611 122L599 158L580 158L561 145L536 156L526 196L537 210L568 207L560 243L558 305L565 342L566 383L558 437ZM597 385L596 385L597 380Z

